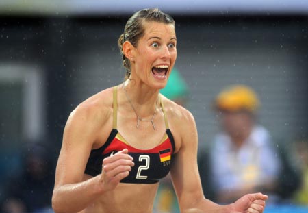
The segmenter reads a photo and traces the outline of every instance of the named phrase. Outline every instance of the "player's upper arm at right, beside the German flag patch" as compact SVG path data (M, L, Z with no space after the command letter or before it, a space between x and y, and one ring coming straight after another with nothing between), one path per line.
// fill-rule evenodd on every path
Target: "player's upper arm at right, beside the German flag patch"
M204 195L198 173L198 135L194 117L190 112L185 111L181 120L182 125L177 129L181 132L181 147L172 164L171 176L179 205L183 209L198 203L204 199Z

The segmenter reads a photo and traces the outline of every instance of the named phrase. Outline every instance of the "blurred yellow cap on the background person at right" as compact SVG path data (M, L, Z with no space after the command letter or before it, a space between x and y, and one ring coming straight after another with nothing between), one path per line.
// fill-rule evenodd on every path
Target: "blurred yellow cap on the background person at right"
M252 88L237 84L222 90L216 97L215 105L218 110L255 112L259 99Z

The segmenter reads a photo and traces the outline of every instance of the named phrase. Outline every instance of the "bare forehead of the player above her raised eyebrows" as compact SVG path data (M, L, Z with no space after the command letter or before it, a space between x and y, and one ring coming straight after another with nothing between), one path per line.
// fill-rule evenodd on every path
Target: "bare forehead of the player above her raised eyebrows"
M172 24L159 23L155 21L144 21L144 37L158 36L159 38L175 38L175 26Z

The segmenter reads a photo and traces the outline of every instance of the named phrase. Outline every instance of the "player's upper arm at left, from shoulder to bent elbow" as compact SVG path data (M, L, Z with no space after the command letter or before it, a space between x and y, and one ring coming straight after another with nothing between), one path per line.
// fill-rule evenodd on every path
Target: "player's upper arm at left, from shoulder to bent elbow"
M82 181L93 142L101 127L100 120L97 110L84 105L79 105L70 114L57 161L55 189Z

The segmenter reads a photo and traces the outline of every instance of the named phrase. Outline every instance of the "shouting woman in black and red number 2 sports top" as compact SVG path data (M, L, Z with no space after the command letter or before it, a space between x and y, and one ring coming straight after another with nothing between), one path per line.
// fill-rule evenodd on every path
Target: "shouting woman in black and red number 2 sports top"
M173 19L136 12L118 40L126 80L69 116L57 162L55 212L152 212L158 181L171 172L181 212L263 212L266 195L230 205L205 199L194 118L159 89L177 58Z

